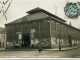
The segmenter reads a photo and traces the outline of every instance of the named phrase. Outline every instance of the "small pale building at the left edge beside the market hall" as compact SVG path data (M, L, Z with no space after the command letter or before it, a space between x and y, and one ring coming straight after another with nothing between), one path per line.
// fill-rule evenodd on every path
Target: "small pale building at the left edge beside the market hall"
M6 48L6 29L0 27L0 48Z

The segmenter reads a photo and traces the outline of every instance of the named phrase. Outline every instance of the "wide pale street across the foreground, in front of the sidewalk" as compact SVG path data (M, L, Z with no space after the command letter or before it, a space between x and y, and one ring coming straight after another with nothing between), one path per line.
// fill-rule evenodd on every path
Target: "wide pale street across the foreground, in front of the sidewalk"
M38 49L37 51L18 51L18 49L11 50L11 51L0 51L0 58L80 58L80 48L77 46L77 49L67 50L67 51L42 51L39 53ZM24 49L23 49L24 50ZM36 50L36 49L35 49Z

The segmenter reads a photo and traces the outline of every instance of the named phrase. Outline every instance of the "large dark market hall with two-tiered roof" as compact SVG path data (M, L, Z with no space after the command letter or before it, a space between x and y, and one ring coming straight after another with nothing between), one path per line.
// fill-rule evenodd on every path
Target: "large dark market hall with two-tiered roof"
M66 24L65 20L39 7L28 15L5 24L6 48L20 47L55 48L80 45L80 30Z

